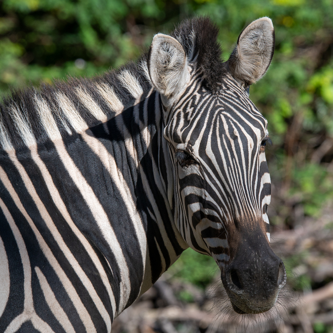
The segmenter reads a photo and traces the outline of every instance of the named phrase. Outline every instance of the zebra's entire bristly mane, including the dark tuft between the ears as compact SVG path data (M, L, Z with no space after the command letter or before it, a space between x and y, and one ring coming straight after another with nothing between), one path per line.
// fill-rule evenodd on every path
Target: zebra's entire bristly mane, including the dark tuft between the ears
M212 92L225 74L217 34L217 26L207 17L184 20L171 33L183 45L187 59L194 62ZM79 116L83 120L81 124L88 127L109 120L139 103L152 90L147 56L146 53L136 63L129 62L96 77L68 77L66 82L56 80L51 85L42 84L38 90L34 87L12 90L11 96L3 98L0 104L0 148L17 149L49 139L40 121L38 108L41 105L52 113L61 137L80 133L82 127L73 125L78 123L71 122L68 114L61 111L59 95L62 96L62 105L71 106L70 118L73 120ZM87 103L83 103L83 99ZM112 103L118 105L117 110Z

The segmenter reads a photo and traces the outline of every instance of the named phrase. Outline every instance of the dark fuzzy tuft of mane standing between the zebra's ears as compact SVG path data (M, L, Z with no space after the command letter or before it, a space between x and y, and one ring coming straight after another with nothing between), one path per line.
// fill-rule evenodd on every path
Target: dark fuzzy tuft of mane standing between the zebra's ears
M221 46L217 41L219 29L208 17L186 19L171 34L183 46L186 57L202 70L206 85L216 92L226 68L221 58Z

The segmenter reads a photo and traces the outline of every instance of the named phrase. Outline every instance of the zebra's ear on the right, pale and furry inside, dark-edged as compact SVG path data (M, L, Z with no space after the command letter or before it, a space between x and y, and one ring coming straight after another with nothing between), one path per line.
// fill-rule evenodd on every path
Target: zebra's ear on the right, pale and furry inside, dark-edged
M267 71L275 47L272 20L262 17L250 23L239 35L228 60L232 76L247 84L258 81Z

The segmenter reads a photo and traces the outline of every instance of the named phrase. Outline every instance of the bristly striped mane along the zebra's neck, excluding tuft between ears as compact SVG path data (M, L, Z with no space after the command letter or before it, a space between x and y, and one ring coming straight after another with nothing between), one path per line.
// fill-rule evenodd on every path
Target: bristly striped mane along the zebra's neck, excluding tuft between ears
M70 115L61 111L60 95L65 97L64 102L70 105L69 110L73 111L71 118L79 115L90 128L139 103L147 97L151 89L147 55L143 55L137 63L129 62L119 69L95 77L68 77L66 81L43 83L39 89L12 89L11 95L3 98L0 104L0 149L29 146L24 140L29 136L34 138L31 144L49 140L45 128L41 125L38 101L42 101L51 111L61 137L66 138L81 133L82 126L76 126L75 122L68 118ZM106 95L108 98L105 98ZM87 103L83 103L83 99ZM25 133L22 132L22 125ZM28 136L27 132L30 132Z

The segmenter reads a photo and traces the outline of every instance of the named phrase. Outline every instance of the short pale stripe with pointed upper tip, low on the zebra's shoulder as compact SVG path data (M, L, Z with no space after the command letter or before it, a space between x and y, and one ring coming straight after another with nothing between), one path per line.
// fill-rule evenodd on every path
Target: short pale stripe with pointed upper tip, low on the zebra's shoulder
M50 310L57 318L57 320L59 321L60 325L63 327L66 333L75 333L75 330L71 322L69 321L66 312L63 310L63 308L60 306L59 302L57 301L56 296L54 295L49 283L46 280L46 277L37 266L35 267L35 272L37 274L39 284L43 291L46 303L49 306Z

